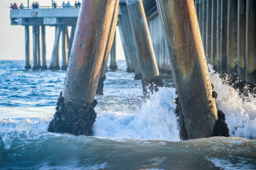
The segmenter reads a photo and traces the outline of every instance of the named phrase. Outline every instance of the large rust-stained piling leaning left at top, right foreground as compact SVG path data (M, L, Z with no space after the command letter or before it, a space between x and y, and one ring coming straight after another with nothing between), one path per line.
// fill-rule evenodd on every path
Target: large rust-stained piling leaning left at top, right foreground
M172 65L185 132L182 138L211 137L218 119L195 5L192 0L156 0ZM184 130L184 129L183 129Z

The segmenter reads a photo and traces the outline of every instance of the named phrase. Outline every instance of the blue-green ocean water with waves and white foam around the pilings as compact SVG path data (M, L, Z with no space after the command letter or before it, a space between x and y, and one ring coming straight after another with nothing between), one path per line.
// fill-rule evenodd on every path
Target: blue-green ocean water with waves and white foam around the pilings
M218 108L230 137L179 140L172 75L141 101L142 84L108 70L94 136L47 132L65 71L26 71L24 61L0 61L0 170L255 170L256 100L241 97L211 66Z

